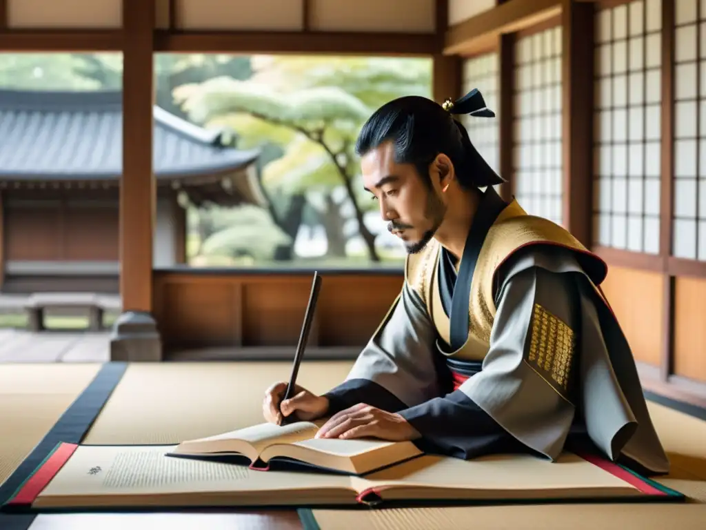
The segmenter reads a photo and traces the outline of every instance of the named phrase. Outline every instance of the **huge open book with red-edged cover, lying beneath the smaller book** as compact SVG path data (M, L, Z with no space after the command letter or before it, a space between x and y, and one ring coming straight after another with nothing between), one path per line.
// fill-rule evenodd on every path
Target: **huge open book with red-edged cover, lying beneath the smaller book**
M424 455L366 477L167 457L174 446L60 444L4 510L414 506L428 502L674 501L683 495L597 457Z

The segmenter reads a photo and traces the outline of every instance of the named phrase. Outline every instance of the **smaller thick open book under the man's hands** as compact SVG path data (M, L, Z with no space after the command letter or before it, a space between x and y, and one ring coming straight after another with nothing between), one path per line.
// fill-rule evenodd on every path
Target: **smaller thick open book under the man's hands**
M363 475L423 454L412 442L315 439L317 431L316 423L306 421L282 426L261 423L181 442L168 455L249 464L262 471L316 468Z

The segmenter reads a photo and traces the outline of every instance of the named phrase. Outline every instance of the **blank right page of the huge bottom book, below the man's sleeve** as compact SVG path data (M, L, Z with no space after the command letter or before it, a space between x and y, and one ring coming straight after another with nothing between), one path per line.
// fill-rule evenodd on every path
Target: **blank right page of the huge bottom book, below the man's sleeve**
M472 460L426 455L371 473L364 479L352 480L356 488L363 489L381 485L508 491L628 486L620 478L569 453L561 455L555 462L525 454L501 454Z

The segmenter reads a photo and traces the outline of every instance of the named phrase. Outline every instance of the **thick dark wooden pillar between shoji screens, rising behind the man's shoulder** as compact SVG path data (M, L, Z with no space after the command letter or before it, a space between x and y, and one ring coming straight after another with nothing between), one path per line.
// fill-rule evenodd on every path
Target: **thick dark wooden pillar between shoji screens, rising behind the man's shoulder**
M563 220L592 244L594 4L562 0Z

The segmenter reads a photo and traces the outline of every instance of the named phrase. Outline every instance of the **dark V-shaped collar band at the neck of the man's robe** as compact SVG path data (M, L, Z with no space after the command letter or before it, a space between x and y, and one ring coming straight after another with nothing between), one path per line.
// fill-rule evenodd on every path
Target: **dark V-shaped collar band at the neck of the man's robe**
M493 187L486 189L468 232L466 244L463 247L461 267L455 278L455 274L452 275L455 273L455 269L450 255L442 250L441 262L439 263L439 291L444 312L450 315L449 346L451 351L461 348L468 340L468 311L473 273L486 235L506 206L508 204L501 199ZM449 306L450 311L448 310Z

